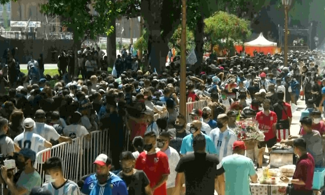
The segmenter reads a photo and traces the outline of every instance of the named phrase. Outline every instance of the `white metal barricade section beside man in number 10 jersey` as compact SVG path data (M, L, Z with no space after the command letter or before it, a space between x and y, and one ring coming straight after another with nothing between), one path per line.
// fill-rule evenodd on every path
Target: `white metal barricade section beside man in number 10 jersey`
M63 142L52 148L47 148L37 152L34 168L40 173L45 181L44 162L53 156L62 159L62 171L65 178L77 182L79 180L79 159L81 150L81 139L75 138L72 143Z

